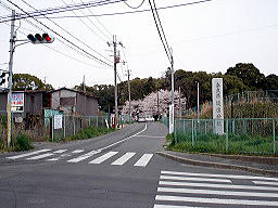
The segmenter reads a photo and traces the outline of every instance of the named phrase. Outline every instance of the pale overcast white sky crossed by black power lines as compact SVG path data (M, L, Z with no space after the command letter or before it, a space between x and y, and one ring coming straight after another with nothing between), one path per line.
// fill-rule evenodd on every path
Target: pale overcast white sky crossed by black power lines
M33 11L24 0L10 0L24 11ZM25 0L37 10L92 0ZM156 0L156 6L189 3L198 0ZM131 6L142 0L127 0ZM0 16L11 15L8 5L23 13L8 0L0 0ZM204 3L159 10L167 42L173 49L174 69L190 72L226 73L237 63L253 63L266 76L278 74L278 1L277 0L212 0ZM150 9L149 0L137 10ZM124 2L99 5L90 10L75 11L76 15L104 14L136 11ZM161 43L152 13L91 16L78 18L73 12L52 14L53 22L37 18L59 35L74 42L94 56L112 64L112 36L116 35L121 60L117 65L122 81L130 78L162 77L169 67L169 61ZM72 16L72 17L65 17ZM87 86L113 84L113 67L100 64L80 53L76 53L60 40L50 29L33 18L16 21L17 40L26 39L28 34L43 31L55 37L51 44L26 43L15 48L14 74L30 74L54 88L80 84L84 76ZM1 18L0 18L1 22ZM8 25L7 25L8 24ZM7 69L9 62L10 23L0 23L0 69ZM97 26L97 27L96 27ZM66 31L61 29L64 28ZM78 38L80 41L76 40ZM60 39L60 40L59 40ZM65 42L65 41L64 41ZM17 42L20 43L20 42ZM50 49L51 48L51 49ZM98 53L96 53L96 51ZM101 54L102 56L100 56ZM119 81L119 80L118 80Z

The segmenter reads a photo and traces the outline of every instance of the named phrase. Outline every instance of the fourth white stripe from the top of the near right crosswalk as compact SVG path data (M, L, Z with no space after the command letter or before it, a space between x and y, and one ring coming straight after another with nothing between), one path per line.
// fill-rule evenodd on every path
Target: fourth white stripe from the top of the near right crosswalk
M174 187L157 187L157 192L181 193L181 194L210 194L222 196L253 196L253 197L274 197L278 198L278 193L258 193L258 192L229 192L214 190L193 190L193 188L174 188Z

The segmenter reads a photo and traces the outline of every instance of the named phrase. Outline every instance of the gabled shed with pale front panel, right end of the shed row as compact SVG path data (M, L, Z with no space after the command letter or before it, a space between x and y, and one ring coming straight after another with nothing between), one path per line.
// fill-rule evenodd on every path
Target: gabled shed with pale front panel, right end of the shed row
M50 108L63 110L65 115L97 116L98 99L88 93L61 88L49 92Z

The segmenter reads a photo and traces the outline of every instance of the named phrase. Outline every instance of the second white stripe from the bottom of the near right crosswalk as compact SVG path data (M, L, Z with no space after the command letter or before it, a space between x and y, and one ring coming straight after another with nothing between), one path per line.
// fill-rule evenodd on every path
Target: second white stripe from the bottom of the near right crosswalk
M277 206L278 202L273 200L243 200L243 199L228 199L228 198L201 198L201 197L185 197L185 196L162 196L156 195L155 200L172 200L186 203L207 203L222 205L249 205L249 206Z

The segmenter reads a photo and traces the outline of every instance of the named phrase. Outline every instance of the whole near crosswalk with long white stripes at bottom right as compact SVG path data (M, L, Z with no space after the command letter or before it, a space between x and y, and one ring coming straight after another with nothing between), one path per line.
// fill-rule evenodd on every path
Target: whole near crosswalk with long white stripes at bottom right
M278 207L278 178L161 171L153 208Z

